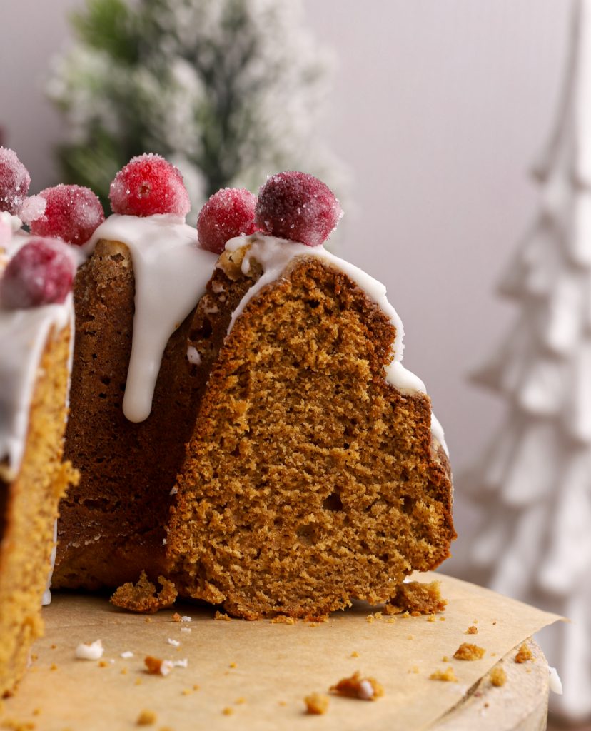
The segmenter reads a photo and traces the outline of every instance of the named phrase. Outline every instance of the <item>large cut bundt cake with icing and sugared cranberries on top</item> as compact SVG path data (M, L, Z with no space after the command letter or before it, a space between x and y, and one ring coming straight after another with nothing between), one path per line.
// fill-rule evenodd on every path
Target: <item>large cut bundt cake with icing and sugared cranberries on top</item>
M54 198L92 208L71 188L44 192L31 231L55 232ZM90 240L65 452L80 482L53 586L123 584L115 604L142 611L178 593L313 618L443 561L443 433L384 286L322 246L340 217L327 186L282 173L258 197L224 189L195 232L178 171L147 155L111 204L91 234L62 234Z

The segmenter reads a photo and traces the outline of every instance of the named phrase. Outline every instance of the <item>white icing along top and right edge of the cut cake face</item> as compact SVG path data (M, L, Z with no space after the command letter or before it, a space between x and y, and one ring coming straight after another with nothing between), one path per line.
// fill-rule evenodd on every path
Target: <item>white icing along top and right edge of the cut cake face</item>
M324 246L305 246L303 243L294 241L286 241L272 236L264 236L255 233L251 236L238 236L230 239L226 243L226 251L237 251L243 246L248 246L242 261L242 271L247 274L251 268L251 260L255 260L262 267L262 276L253 286L248 289L237 308L232 313L232 319L228 327L228 332L234 327L237 317L240 317L245 306L255 297L263 287L272 281L279 279L284 270L286 270L289 262L295 257L318 257L328 262L330 265L345 273L354 283L362 289L370 300L375 302L381 311L386 314L390 322L396 328L396 336L392 344L392 361L386 366L386 382L394 386L401 393L413 395L416 393L426 393L424 383L419 376L408 371L401 363L403 357L403 336L404 327L397 311L392 307L386 298L386 287L377 279L373 279L367 272L359 269L354 264L346 262L339 257L335 257L330 251L324 249ZM432 436L441 444L446 455L449 456L446 441L443 436L443 428L431 412L431 433Z

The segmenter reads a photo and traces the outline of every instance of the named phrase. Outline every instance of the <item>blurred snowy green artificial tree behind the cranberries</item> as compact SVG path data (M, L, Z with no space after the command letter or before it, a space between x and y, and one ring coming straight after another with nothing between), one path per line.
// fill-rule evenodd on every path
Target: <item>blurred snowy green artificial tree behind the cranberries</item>
M47 89L69 130L62 177L105 204L115 173L156 152L180 168L194 211L278 170L338 188L340 166L314 136L329 56L300 11L297 0L87 0Z

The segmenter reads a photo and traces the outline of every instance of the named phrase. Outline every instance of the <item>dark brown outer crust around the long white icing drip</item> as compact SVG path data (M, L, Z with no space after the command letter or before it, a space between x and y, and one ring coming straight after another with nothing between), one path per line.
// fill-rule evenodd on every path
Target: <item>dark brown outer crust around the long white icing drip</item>
M167 303L162 303L167 306ZM189 366L191 315L172 335L147 420L123 415L134 273L123 244L99 241L75 280L76 339L66 457L80 484L61 502L53 586L116 587L164 573L170 491L204 384Z

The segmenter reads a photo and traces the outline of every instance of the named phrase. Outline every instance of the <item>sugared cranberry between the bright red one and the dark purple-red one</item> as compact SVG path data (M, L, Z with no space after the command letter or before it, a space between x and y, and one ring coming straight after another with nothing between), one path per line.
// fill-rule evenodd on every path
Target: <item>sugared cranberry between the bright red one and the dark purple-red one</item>
M256 196L244 188L222 188L205 203L197 219L199 246L221 254L226 241L256 231Z

